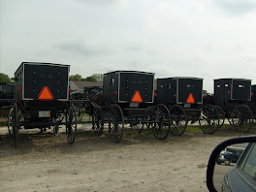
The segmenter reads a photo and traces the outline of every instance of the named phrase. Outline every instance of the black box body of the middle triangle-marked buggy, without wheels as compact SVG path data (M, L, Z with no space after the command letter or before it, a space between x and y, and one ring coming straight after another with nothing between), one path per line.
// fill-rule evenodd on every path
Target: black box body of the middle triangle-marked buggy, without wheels
M136 71L115 71L104 75L104 100L107 103L132 103L139 91L142 104L154 102L154 74Z

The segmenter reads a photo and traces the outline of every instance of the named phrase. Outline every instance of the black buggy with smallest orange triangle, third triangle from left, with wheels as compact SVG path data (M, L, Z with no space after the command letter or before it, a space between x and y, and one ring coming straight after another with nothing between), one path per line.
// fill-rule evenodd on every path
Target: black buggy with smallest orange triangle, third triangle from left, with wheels
M157 103L169 108L173 126L171 131L181 136L187 123L199 120L200 128L208 134L216 131L219 124L217 109L203 106L203 79L166 78L157 79Z

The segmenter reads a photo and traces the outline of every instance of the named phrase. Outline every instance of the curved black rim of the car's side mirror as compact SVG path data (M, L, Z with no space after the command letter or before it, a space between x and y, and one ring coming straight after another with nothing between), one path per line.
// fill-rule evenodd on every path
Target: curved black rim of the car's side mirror
M215 162L220 152L231 144L242 144L242 143L256 143L256 136L247 136L227 140L221 144L218 144L211 152L208 159L208 171L207 171L207 186L210 192L217 192L213 184L213 174Z

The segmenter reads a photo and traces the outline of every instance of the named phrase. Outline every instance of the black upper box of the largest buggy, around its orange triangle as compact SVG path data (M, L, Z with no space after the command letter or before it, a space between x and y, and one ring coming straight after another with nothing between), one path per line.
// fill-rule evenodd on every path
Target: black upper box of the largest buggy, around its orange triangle
M15 73L16 85L22 89L16 92L16 100L39 100L39 94L47 86L52 100L68 101L69 68L69 65L52 63L21 63Z

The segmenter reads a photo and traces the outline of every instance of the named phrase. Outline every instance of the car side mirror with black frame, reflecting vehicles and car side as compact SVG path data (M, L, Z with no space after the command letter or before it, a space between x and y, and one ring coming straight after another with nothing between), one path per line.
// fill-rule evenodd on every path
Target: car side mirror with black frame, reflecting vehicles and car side
M243 172L243 168L246 167L247 159L251 160L249 166L249 172L253 172L252 180L255 179L256 174L256 136L240 137L235 139L227 140L221 144L218 144L210 154L208 160L208 171L207 171L207 185L210 192L216 191L232 191L227 190L227 188L232 188L238 182L238 179L232 179L233 169L237 169L237 172ZM251 149L253 148L253 149ZM251 152L250 150L253 150ZM251 153L251 154L250 154ZM253 156L254 155L254 156ZM246 160L246 161L245 161ZM238 164L237 164L238 162ZM242 164L241 166L239 164ZM242 167L242 168L240 168ZM251 171L252 170L252 171ZM244 171L246 171L244 169ZM235 173L235 172L234 172ZM240 175L242 175L241 173ZM250 175L250 173L245 173L244 175ZM250 176L248 176L248 179ZM228 180L229 179L229 180ZM248 181L249 182L249 181ZM239 183L240 184L240 183ZM252 182L253 185L253 182ZM240 184L241 187L241 184ZM246 187L246 186L243 186ZM251 187L251 186L249 186ZM253 187L256 188L254 185ZM244 188L237 191L247 191Z

